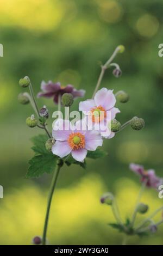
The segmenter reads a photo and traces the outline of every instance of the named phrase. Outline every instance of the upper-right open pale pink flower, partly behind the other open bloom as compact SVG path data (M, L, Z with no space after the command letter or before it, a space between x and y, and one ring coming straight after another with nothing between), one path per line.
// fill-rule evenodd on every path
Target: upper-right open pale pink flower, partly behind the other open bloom
M102 88L95 94L94 99L81 101L79 103L79 111L82 111L88 119L91 117L93 127L95 130L99 129L101 136L105 138L112 138L115 132L109 131L108 135L105 132L108 130L108 123L120 113L120 109L114 107L116 97L113 90ZM97 128L99 127L99 128Z

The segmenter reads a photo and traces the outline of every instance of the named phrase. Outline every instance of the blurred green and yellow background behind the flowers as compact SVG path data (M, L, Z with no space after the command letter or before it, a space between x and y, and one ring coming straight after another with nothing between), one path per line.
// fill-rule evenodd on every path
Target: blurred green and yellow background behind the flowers
M162 175L162 95L163 59L158 56L162 43L162 0L0 0L0 243L21 245L42 235L46 198L51 175L25 179L28 160L33 156L30 138L42 132L29 129L26 118L32 108L19 105L23 92L18 80L30 77L35 94L42 80L71 83L86 90L89 99L105 62L117 45L126 51L115 61L123 71L121 78L106 71L103 87L126 90L127 104L117 103L122 123L134 115L146 121L142 131L130 127L115 138L104 141L108 156L87 161L87 169L64 167L52 202L48 227L51 244L113 244L122 242L122 234L109 227L114 222L111 210L99 203L101 194L117 195L123 218L131 216L139 178L128 169L130 162L144 164ZM78 108L77 99L73 108ZM52 113L52 99L38 99ZM52 119L49 120L51 129ZM149 212L162 205L158 192L147 190L143 202ZM147 214L146 214L147 215ZM143 216L144 217L144 216ZM156 217L159 220L160 216ZM162 245L163 225L158 232L129 244Z

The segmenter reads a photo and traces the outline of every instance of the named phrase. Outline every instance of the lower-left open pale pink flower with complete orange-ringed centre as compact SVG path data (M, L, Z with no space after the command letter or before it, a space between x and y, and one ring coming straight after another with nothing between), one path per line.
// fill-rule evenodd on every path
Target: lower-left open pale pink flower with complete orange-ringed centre
M76 161L83 162L87 150L94 151L102 146L103 139L99 132L82 130L82 127L82 120L72 125L69 120L58 119L52 131L56 140L52 153L61 158L71 154Z

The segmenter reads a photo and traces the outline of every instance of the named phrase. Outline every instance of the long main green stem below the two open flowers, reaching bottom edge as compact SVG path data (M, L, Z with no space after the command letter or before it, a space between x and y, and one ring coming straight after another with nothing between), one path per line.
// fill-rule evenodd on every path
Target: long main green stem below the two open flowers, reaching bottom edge
M51 202L53 197L53 192L55 190L55 186L57 184L58 174L59 174L60 166L57 165L57 169L54 172L51 188L49 190L49 196L48 196L48 203L47 203L47 210L46 210L46 217L45 217L45 223L43 227L43 235L42 235L42 245L46 245L46 233L47 233L47 225L48 225L48 218L49 218L49 211L51 209Z

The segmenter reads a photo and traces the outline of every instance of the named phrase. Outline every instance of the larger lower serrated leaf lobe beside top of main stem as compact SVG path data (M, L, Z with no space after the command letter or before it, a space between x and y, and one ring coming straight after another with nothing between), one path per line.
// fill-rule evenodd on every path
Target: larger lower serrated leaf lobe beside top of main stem
M26 178L38 178L43 173L51 173L57 165L57 156L52 153L37 155L29 160Z

